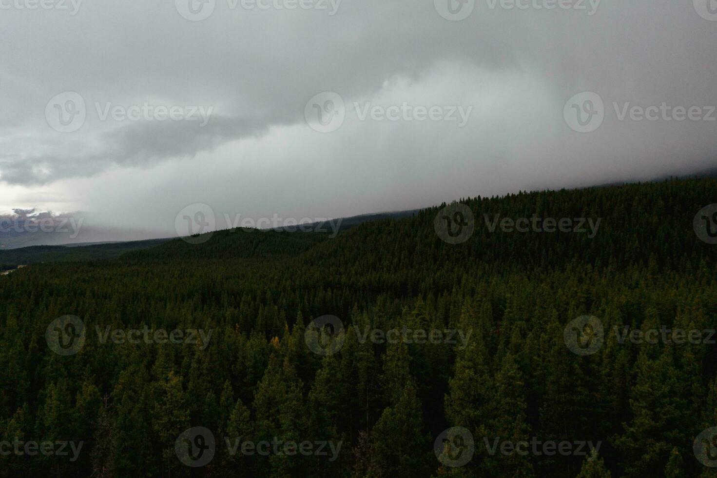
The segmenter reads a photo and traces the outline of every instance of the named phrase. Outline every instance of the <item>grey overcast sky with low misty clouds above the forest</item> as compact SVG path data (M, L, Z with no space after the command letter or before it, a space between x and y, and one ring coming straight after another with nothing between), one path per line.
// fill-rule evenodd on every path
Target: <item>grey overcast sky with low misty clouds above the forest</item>
M715 0L78 1L0 0L0 212L164 236L717 164Z

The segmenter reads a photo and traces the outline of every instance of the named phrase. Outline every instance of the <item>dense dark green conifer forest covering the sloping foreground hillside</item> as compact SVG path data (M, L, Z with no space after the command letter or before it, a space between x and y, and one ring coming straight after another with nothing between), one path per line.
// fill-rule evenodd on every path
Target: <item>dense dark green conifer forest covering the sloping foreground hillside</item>
M715 202L473 197L0 276L0 476L717 477Z

